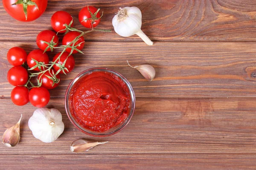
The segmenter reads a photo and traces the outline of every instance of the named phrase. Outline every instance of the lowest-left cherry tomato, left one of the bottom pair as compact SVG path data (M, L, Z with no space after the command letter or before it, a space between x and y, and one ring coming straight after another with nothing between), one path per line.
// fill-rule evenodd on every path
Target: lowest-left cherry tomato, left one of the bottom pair
M17 86L13 88L11 99L15 105L26 105L29 102L29 89L24 86Z

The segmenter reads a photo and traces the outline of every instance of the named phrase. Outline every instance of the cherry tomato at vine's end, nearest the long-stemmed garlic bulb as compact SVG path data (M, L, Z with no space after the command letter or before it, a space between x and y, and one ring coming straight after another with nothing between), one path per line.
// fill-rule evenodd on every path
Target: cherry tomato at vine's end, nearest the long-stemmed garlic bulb
M94 14L97 11L97 8L95 8L93 6L89 6L89 9L92 14ZM93 18L90 15L90 12L88 11L87 6L82 8L78 15L79 22L86 28L92 28L92 22L93 22L93 27L96 27L99 25L100 19L96 19L96 18L100 17L99 12L94 17L95 17L94 22L93 22L93 20L85 20L85 19Z

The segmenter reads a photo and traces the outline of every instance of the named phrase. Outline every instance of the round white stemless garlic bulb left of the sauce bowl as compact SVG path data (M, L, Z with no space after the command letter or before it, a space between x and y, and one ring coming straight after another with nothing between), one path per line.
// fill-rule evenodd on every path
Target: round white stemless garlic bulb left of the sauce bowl
M61 112L54 108L38 108L29 119L29 129L42 142L54 142L64 131Z

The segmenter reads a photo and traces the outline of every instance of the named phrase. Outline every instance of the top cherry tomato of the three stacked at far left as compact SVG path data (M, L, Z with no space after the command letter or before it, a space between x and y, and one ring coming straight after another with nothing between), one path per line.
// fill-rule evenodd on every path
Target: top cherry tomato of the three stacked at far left
M7 60L11 65L20 66L26 62L27 54L23 48L12 47L7 52Z

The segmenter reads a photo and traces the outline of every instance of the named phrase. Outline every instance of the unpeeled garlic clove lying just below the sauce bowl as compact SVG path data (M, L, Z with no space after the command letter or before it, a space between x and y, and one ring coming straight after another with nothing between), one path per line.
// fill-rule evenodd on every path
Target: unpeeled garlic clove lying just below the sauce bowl
M70 150L72 152L85 152L95 147L98 144L105 144L105 143L107 142L90 142L85 139L77 139L74 142L72 142L70 146Z

